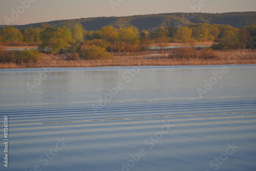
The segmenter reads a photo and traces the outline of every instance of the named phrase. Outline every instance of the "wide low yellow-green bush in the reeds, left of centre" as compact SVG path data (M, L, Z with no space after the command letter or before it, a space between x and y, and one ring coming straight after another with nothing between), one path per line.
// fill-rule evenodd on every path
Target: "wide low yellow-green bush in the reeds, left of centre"
M106 52L104 48L95 45L82 48L79 52L79 56L82 59L87 60L112 58L112 55L109 52Z

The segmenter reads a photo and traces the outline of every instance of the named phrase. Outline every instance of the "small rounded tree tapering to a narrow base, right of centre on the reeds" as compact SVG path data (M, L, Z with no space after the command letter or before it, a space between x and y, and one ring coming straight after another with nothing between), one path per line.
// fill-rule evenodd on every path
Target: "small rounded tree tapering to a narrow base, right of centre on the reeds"
M169 31L165 29L164 27L160 27L155 31L155 42L160 47L161 52L163 52L164 48L168 46L168 35Z

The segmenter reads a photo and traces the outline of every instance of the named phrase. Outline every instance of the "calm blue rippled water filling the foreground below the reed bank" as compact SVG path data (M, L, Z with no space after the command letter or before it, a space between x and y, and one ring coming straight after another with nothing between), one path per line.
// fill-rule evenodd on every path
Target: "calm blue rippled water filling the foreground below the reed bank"
M0 70L4 115L0 170L256 170L256 66Z

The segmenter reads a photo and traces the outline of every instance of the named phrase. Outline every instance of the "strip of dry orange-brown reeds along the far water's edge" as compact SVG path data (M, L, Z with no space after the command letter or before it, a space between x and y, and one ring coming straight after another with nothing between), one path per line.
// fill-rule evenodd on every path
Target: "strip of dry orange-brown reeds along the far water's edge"
M181 51L181 50L179 50ZM183 52L184 50L182 50ZM179 52L181 53L181 52ZM116 66L202 66L202 65L250 65L256 64L255 50L214 51L213 57L197 57L182 53L177 55L175 50L148 53L115 54L112 59L99 60L65 60L65 55L43 55L36 62L0 63L1 69L15 68L65 68L65 67L116 67ZM203 54L205 55L205 54ZM206 54L207 55L207 54Z

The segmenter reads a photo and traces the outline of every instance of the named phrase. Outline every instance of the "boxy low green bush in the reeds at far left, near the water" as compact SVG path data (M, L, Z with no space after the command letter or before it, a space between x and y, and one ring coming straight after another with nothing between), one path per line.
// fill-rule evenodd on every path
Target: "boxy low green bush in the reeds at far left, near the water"
M38 50L15 51L13 60L15 63L36 62L41 57Z

